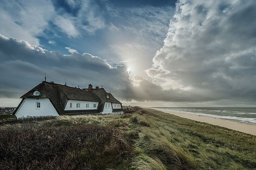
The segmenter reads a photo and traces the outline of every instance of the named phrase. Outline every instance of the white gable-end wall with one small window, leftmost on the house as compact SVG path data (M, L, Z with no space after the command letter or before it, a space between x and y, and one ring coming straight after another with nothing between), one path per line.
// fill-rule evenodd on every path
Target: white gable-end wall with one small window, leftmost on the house
M36 108L36 102L40 102L40 109ZM26 98L15 116L17 118L27 116L59 116L55 108L52 106L49 98Z

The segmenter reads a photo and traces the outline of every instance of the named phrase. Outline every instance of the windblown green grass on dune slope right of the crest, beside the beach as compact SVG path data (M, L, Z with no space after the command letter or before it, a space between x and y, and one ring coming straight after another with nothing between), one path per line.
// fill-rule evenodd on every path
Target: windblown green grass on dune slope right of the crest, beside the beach
M137 145L167 169L256 168L256 136L145 110L148 113L133 116L140 120L135 122Z

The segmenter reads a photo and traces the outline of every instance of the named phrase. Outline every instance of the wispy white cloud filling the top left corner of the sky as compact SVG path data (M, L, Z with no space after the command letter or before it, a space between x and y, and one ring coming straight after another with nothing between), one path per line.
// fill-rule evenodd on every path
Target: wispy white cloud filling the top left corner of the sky
M48 1L1 1L0 33L39 45L38 35L48 26L54 7Z

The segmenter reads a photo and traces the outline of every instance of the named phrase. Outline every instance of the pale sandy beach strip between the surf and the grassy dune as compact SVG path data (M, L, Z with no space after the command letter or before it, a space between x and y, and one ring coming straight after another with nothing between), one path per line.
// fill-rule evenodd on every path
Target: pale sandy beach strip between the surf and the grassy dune
M162 111L164 113L172 114L175 116L191 119L194 121L209 123L213 125L218 125L220 127L237 130L246 134L251 134L256 136L256 125L252 124L245 124L245 123L238 123L238 122L231 122L223 119L218 118L212 118L212 117L206 117L206 116L198 116L198 115L192 115L192 114L186 114L182 112L176 112L171 110L165 110L165 109L156 109L156 108L150 108L155 109L158 111Z

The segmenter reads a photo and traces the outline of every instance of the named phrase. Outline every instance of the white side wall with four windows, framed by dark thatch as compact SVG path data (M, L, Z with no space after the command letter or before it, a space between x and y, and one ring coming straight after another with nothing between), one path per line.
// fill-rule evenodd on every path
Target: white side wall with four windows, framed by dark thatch
M70 103L72 103L72 108L70 108ZM80 108L76 108L76 103L80 103ZM86 107L86 103L89 104L89 108ZM93 105L96 104L94 108ZM69 100L66 104L65 110L93 110L98 108L99 102L87 102L87 101L78 101L78 100Z

